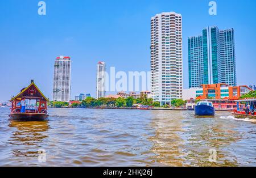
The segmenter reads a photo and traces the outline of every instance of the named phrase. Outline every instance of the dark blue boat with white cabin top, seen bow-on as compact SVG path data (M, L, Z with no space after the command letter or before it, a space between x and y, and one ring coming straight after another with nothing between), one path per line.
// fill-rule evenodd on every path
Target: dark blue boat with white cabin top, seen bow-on
M195 115L197 116L214 116L215 109L212 102L210 101L200 101L196 104Z

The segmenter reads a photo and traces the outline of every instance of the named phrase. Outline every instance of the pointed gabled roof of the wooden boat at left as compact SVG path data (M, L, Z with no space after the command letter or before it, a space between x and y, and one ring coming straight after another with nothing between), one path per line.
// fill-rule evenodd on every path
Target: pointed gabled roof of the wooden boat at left
M31 80L30 85L27 88L23 88L22 91L10 101L13 101L17 98L26 98L26 99L40 99L42 101L49 101L46 96L39 90L38 86L34 83L34 80Z

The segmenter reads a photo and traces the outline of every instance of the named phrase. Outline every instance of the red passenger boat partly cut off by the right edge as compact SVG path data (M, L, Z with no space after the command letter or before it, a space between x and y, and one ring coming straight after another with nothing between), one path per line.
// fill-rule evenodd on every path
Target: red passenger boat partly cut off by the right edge
M232 115L236 118L256 118L256 98L237 100L237 109Z

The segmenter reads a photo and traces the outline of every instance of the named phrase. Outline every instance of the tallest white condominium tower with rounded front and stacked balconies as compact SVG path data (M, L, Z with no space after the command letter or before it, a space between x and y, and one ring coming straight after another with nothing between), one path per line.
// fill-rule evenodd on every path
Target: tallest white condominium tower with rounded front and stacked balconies
M154 101L182 98L182 18L163 12L151 18L151 91Z

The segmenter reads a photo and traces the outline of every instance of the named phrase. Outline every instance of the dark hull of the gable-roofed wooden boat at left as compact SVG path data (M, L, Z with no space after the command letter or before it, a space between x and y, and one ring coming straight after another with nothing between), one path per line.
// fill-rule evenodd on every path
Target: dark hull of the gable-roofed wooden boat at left
M43 121L49 117L44 113L13 113L9 116L12 120L18 121Z

